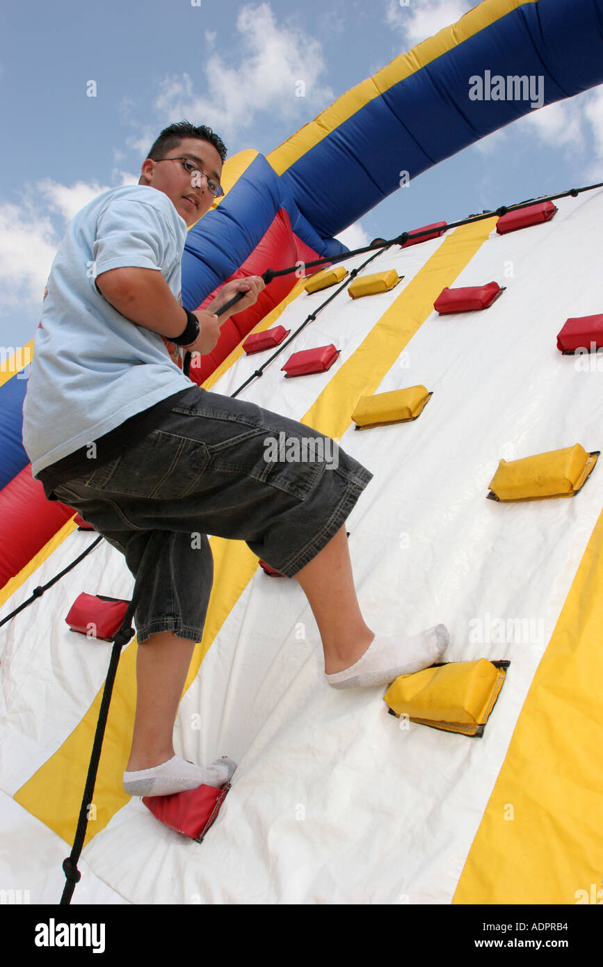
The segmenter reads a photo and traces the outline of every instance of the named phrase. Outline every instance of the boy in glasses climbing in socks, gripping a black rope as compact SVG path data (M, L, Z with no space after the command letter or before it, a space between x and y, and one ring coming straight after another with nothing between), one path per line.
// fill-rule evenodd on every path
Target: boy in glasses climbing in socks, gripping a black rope
M213 582L207 538L245 541L309 601L336 689L388 685L441 659L443 625L375 635L359 609L345 519L372 474L343 451L323 462L266 458L264 441L308 427L253 403L208 393L183 372L183 351L209 353L239 291L227 282L205 310L181 301L187 226L221 193L226 149L186 121L162 131L137 186L111 189L72 220L52 263L23 404L23 444L49 500L74 508L121 553L140 588L136 713L124 787L167 795L222 785L177 756L173 727ZM326 438L312 431L316 438ZM329 447L317 447L329 454Z

